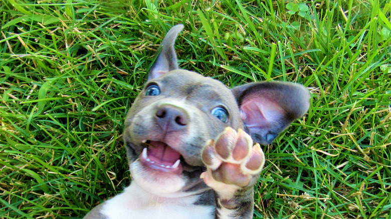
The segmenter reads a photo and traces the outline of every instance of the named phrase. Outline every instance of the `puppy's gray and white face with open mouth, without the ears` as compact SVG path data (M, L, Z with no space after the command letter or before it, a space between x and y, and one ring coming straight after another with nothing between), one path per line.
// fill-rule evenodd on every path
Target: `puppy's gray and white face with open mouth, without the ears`
M201 151L227 126L243 123L220 81L181 69L148 80L125 121L133 179L160 195L205 189Z

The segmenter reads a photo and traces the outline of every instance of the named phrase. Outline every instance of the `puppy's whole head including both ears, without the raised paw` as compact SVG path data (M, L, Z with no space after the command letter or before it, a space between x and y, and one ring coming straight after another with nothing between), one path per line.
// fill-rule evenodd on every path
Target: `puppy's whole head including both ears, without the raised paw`
M144 89L125 121L124 140L133 180L162 196L207 189L201 152L225 127L245 129L270 143L309 106L301 85L255 82L233 89L218 80L178 69L173 26L152 65Z

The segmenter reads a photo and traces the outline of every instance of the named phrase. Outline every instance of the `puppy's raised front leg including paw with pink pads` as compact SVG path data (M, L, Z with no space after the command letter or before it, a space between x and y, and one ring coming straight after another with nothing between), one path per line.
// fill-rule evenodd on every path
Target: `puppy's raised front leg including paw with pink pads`
M265 164L265 155L242 129L227 127L204 148L207 171L201 174L216 192L216 218L252 218L253 186Z

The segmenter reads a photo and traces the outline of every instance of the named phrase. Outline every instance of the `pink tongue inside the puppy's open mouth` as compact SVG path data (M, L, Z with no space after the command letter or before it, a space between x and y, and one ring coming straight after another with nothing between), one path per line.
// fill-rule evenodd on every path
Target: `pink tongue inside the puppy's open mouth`
M148 158L155 162L172 165L180 157L176 150L161 141L151 140L150 144L151 146L148 147Z

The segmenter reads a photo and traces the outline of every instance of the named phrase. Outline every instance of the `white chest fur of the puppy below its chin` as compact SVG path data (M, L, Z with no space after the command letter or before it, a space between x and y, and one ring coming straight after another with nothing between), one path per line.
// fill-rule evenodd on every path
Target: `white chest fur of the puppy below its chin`
M132 183L121 194L106 201L101 213L110 219L214 218L214 206L193 204L198 197L159 197Z

